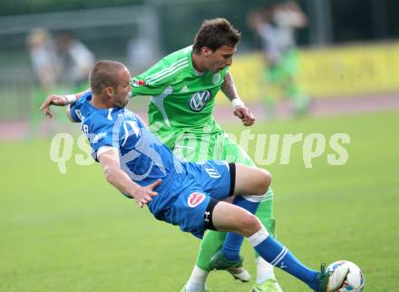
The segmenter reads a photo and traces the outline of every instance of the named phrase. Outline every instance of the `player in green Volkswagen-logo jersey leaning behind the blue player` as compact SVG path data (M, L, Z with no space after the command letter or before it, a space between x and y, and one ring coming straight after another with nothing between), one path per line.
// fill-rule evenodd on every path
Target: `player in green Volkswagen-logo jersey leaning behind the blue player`
M131 79L133 96L151 96L151 131L175 154L188 161L212 159L254 166L248 154L229 139L213 117L215 96L221 90L232 102L234 114L244 125L251 126L255 122L254 116L239 98L229 73L239 41L240 34L226 19L206 20L199 28L193 45L167 55L146 72ZM46 102L50 104L49 99ZM268 232L274 234L271 189L265 194L256 215ZM241 258L229 260L220 257L219 250L222 247L226 249L223 246L225 238L226 233L207 231L196 265L182 291L205 291L209 271L214 268L227 269L233 277L249 280L248 272L242 268ZM234 240L232 246L239 246L239 238ZM258 279L253 291L282 291L274 276L273 266L258 255L256 262Z

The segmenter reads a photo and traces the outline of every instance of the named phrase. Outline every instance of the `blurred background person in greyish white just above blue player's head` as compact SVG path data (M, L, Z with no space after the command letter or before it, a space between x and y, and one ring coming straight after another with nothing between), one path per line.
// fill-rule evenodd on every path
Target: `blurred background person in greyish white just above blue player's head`
M62 82L73 90L86 89L90 70L95 63L94 54L72 34L64 32L57 38L62 61Z

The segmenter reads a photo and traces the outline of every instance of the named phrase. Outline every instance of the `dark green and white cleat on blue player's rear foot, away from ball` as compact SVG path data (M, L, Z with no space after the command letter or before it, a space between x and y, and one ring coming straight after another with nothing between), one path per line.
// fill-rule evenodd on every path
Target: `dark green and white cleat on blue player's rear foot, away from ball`
M248 271L242 267L243 258L239 257L236 261L227 259L219 250L212 258L210 258L211 269L227 270L231 276L240 280L241 282L248 282L250 275Z

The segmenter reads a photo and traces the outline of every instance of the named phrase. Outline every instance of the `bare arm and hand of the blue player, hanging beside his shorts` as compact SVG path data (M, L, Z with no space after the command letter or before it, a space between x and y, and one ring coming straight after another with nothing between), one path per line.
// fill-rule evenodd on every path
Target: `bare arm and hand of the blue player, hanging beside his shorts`
M98 159L102 165L105 179L123 194L136 200L142 208L152 200L152 197L158 195L154 189L161 184L161 180L156 180L147 187L143 188L129 178L129 176L120 167L119 153L115 148L103 151Z

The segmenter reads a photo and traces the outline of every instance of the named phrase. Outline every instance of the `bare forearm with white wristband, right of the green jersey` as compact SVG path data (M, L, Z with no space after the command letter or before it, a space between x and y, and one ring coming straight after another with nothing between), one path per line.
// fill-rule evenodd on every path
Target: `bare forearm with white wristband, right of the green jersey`
M236 84L233 81L231 73L227 73L221 91L229 98L234 108L234 115L236 115L244 126L252 126L255 122L255 116L245 106L244 102L238 96Z

